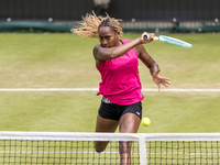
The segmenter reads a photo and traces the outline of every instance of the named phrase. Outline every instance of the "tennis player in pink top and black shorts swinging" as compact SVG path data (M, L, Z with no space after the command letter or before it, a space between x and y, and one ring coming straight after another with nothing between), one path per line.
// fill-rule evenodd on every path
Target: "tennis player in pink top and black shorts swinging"
M142 44L150 43L153 33L144 32L140 37L119 40L122 34L120 21L114 18L87 13L79 28L72 32L86 37L97 37L100 44L94 47L96 67L101 75L98 95L102 95L97 118L96 132L136 133L142 119L142 85L139 75L139 58L150 69L154 82L167 87L170 82L160 76L160 67ZM148 35L150 40L144 40ZM108 142L95 142L97 152L102 152ZM131 142L120 142L121 165L131 164Z

